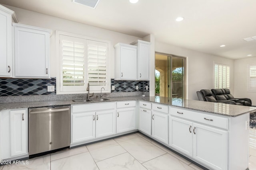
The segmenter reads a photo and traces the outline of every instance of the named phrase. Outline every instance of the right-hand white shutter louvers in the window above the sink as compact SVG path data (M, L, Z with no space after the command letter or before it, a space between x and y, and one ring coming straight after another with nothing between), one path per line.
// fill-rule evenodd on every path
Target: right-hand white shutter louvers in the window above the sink
M88 82L90 86L106 86L107 83L107 44L87 41Z

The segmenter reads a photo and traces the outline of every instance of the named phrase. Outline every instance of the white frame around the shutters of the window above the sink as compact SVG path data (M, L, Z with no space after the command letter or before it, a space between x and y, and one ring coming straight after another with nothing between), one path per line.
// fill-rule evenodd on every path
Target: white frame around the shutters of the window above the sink
M62 56L61 55L61 43L60 43L60 36L64 35L64 36L68 36L68 37L74 37L74 38L78 38L78 39L84 39L84 44L85 44L85 73L84 73L84 88L82 88L82 90L78 90L78 91L64 91L62 86L61 86L61 81L62 81ZM63 32L63 31L58 31L56 30L56 94L86 94L88 93L86 91L87 88L87 83L88 83L88 54L87 54L87 40L90 41L98 41L100 43L106 43L107 44L107 49L108 49L108 53L107 53L107 57L106 57L106 86L98 86L98 88L94 87L94 86L90 86L90 92L94 92L94 93L100 93L101 92L101 88L104 87L105 90L102 89L102 92L104 93L110 93L110 41L107 40L103 40L103 39L97 39L97 38L93 38L93 37L87 37L84 35L78 35L78 34L73 34L73 33L67 33L67 32Z

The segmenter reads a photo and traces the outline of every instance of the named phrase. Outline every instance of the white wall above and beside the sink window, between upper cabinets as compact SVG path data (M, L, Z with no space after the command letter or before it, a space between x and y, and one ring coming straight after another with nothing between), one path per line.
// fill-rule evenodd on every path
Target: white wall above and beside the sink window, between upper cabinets
M111 49L109 50L110 52L109 56L110 56L110 62L113 63L113 64L110 64L111 78L114 78L114 45L116 43L130 44L138 39L142 39L139 37L134 37L131 35L126 35L123 33L118 33L115 31L110 31L107 29L102 29L99 27L94 27L91 25L86 25L83 23L78 23L70 20L64 20L61 18L40 14L37 12L23 10L23 9L12 7L12 6L7 6L7 5L3 5L3 6L6 6L7 8L9 8L10 10L13 10L16 13L19 23L52 30L52 36L50 37L50 76L51 77L56 77L56 62L57 62L56 61L56 44L55 44L56 30L110 41Z

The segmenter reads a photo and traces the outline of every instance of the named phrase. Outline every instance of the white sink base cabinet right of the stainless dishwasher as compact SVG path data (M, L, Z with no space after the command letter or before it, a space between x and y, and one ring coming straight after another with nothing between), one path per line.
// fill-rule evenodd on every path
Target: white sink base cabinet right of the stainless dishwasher
M71 144L116 134L115 103L72 105L71 132Z

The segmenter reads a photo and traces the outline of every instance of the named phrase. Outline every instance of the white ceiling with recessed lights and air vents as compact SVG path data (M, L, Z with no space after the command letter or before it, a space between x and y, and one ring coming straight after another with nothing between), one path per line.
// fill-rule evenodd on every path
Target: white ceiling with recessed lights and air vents
M256 0L100 0L96 9L71 0L0 0L50 16L94 25L230 59L256 57ZM175 21L184 17L181 22ZM220 45L226 47L219 47Z

